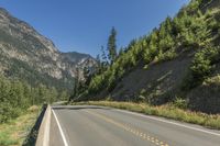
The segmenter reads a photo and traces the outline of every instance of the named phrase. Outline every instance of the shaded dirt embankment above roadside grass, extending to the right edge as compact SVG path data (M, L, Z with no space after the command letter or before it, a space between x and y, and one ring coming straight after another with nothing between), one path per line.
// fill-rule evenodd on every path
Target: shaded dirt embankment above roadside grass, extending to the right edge
M179 98L183 94L189 108L202 112L220 112L220 64L215 68L215 74L202 85L190 91L183 91L182 87L187 78L189 66L195 52L180 54L177 58L156 63L148 66L139 65L118 82L110 97L116 101L135 101L143 98L152 104L163 104ZM102 91L99 96L107 97Z

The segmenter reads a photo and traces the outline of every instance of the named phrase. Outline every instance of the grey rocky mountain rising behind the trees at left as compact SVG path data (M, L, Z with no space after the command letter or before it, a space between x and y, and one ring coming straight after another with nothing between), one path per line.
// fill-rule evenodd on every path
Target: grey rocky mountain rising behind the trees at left
M77 67L95 65L90 55L59 52L52 41L0 8L0 72L4 76L33 86L72 89Z

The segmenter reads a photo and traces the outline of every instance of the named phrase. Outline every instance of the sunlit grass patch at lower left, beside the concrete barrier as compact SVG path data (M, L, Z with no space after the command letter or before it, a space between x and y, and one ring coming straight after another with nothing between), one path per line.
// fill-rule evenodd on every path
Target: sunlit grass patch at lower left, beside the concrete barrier
M15 120L0 124L0 146L21 146L35 123L40 110L38 106L32 106Z

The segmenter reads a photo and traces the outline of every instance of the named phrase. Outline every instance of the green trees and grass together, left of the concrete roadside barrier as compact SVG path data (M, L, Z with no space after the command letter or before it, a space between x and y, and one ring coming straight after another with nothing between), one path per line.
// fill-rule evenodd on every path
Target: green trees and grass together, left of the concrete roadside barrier
M55 88L0 76L0 146L21 146L28 138L43 103L67 97Z

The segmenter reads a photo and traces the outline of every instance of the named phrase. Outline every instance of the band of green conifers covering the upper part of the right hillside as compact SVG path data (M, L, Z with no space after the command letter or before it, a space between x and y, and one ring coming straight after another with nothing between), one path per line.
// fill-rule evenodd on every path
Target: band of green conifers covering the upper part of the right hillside
M92 97L89 100L97 100L94 98L97 93L102 90L112 91L117 82L140 63L147 69L151 63L170 60L180 53L189 50L197 52L189 68L190 82L201 82L210 75L213 64L219 61L217 57L219 47L216 46L219 45L218 38L220 38L220 11L219 9L201 10L205 8L204 3L207 1L193 0L187 7L183 7L176 16L166 18L150 35L133 40L125 48L121 48L119 56L116 57L114 52L109 52L110 61L102 52L102 59L98 61L99 74L91 78L84 93ZM116 48L111 44L111 42L116 43L113 36L116 36L114 30L109 37L108 50L109 47ZM195 87L190 87L191 83L186 85L189 89Z

